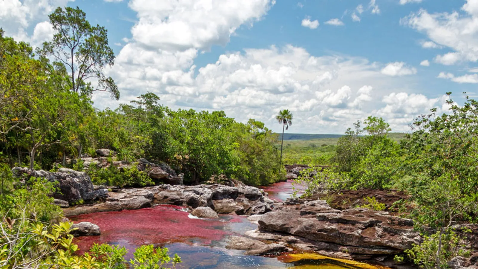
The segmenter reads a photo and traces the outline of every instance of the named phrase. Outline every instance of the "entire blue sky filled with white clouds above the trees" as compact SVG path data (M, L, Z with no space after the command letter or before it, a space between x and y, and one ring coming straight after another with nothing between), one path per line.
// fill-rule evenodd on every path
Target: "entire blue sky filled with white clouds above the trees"
M47 14L78 6L108 29L120 101L152 91L173 108L224 110L275 131L341 134L368 115L394 131L446 112L478 83L478 0L0 0L0 27L39 45Z

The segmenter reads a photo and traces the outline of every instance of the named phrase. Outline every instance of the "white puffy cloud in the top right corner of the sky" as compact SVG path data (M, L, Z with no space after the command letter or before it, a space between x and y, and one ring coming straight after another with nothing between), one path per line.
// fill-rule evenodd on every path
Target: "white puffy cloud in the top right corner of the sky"
M466 0L459 11L429 13L421 9L401 20L418 32L424 33L430 42L424 47L447 47L452 52L438 55L437 63L454 65L461 61L478 61L478 0ZM426 45L425 45L426 44Z

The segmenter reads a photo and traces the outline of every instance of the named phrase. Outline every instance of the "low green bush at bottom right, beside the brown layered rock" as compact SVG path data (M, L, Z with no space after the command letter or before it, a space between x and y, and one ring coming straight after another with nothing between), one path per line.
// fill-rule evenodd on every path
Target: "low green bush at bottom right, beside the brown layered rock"
M424 235L423 243L413 245L405 250L407 258L416 265L425 269L446 269L447 262L454 257L469 257L470 252L465 250L462 238L455 231L448 229L438 231L433 235ZM398 258L400 259L400 258Z

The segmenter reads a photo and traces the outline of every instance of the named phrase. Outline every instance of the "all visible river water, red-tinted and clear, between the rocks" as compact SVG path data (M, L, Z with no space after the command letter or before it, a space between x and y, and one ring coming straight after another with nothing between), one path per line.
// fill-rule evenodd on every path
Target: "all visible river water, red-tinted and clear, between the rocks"
M285 200L292 195L290 181L279 182L264 188L270 198ZM92 222L101 228L99 236L75 238L80 252L87 251L93 243L108 243L126 247L127 258L132 258L136 247L153 244L168 247L170 254L177 253L183 263L177 269L252 269L295 268L336 269L364 268L347 265L333 259L299 259L288 255L261 257L246 256L244 251L229 250L225 246L230 235L243 235L257 228L247 216L221 215L218 220L191 218L184 208L159 205L139 210L100 212L71 217L74 222ZM371 268L375 269L375 268Z

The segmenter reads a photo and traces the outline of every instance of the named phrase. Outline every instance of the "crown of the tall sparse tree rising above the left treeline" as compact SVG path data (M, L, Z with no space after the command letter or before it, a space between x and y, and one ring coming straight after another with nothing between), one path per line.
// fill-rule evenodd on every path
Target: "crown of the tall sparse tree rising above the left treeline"
M81 9L58 7L48 16L56 34L53 40L43 43L43 55L54 56L69 70L71 90L81 95L93 91L108 91L118 100L120 92L113 78L105 77L103 68L114 64L115 55L108 45L108 30L92 26ZM98 82L93 88L88 79Z

